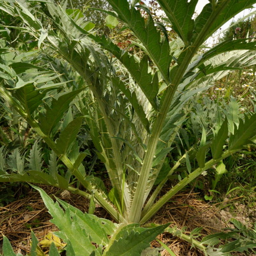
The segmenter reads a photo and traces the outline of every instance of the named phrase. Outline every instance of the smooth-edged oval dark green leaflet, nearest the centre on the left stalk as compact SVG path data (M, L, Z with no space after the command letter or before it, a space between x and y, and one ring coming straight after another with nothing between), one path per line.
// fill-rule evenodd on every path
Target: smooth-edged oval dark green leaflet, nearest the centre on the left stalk
M60 133L60 138L56 142L56 148L60 154L66 154L68 149L76 140L77 133L83 121L83 116L77 117L71 121L67 127Z

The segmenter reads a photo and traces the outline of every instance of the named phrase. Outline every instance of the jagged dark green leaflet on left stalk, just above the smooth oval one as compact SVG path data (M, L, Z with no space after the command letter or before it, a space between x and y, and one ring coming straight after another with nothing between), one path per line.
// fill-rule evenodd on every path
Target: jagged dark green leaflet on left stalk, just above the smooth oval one
M66 92L62 94L58 100L52 99L52 107L49 108L45 105L45 115L39 113L40 126L46 135L49 135L52 129L60 121L63 113L68 109L70 102L76 97L76 95L83 89L75 90L72 92Z

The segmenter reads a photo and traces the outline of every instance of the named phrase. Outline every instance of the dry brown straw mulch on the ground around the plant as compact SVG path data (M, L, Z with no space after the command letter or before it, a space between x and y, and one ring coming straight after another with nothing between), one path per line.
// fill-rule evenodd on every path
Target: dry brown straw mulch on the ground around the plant
M64 201L72 204L83 212L88 211L88 202L81 196L72 195L68 191L63 192L57 188L40 186L48 195L55 195ZM214 205L198 200L196 193L182 193L172 198L159 211L151 222L158 224L171 223L171 227L188 227L186 233L196 227L203 227L202 236L220 232L226 226L225 220L221 220L220 210ZM95 214L102 218L109 219L107 212L101 207L96 208ZM50 214L44 206L39 193L29 188L25 198L14 201L4 207L0 207L0 233L7 236L11 241L15 252L26 254L30 251L30 233L34 231L39 242L48 234L57 230L49 220ZM161 234L158 240L168 245L178 256L203 256L204 254L196 248L191 248L191 244L170 234ZM0 248L2 236L0 236ZM152 247L161 247L155 240ZM47 253L47 250L44 250ZM1 249L0 249L1 253ZM162 256L169 253L166 250L161 252ZM236 254L244 255L244 254Z

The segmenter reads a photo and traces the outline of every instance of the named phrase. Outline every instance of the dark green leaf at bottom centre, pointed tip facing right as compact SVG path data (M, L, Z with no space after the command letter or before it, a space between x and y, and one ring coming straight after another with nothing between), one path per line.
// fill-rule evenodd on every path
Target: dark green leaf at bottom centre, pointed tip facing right
M155 228L130 228L124 233L122 230L122 237L115 240L106 252L106 256L140 256L141 252L149 246L157 235L161 234L169 224L157 226Z

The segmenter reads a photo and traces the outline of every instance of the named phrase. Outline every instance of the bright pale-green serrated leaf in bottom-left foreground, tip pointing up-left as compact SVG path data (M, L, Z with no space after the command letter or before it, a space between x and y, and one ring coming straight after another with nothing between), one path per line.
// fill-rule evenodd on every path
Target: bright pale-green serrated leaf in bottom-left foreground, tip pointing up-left
M76 215L71 217L68 208L66 212L63 212L60 205L57 202L54 203L43 189L31 186L39 191L45 206L52 215L52 223L59 228L60 231L56 232L56 235L63 241L70 241L76 256L90 255L96 248L91 244L91 239L84 227L79 225Z

